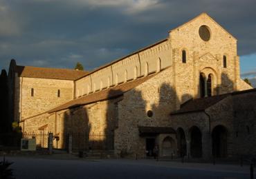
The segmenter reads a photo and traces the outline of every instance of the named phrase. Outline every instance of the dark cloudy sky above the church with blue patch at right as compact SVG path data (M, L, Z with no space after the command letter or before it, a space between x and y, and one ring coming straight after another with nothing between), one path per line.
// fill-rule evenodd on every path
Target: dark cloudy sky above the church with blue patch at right
M238 39L241 76L256 76L255 0L1 0L0 67L93 70L165 39L207 12Z

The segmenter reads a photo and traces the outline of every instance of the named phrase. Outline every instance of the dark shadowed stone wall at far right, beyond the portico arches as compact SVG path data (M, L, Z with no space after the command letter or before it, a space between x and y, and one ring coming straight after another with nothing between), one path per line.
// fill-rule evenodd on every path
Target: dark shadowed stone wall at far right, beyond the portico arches
M233 154L256 156L256 92L237 94L233 101Z

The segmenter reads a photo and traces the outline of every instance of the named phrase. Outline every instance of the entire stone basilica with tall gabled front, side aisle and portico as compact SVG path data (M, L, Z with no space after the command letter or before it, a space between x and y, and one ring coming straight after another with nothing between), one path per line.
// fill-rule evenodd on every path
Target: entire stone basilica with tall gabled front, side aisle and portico
M237 39L205 13L92 72L12 60L8 77L12 120L53 132L55 148L68 134L76 148L98 140L118 156L155 145L160 156L256 155L256 91L240 78Z

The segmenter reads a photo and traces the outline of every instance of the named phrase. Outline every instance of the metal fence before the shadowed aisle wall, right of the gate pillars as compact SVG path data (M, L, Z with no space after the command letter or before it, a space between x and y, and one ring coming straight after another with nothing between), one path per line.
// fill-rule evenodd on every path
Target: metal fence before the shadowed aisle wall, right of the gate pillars
M113 135L105 134L84 134L73 133L66 134L72 136L72 149L73 150L107 150L113 149ZM68 140L66 140L68 142ZM68 144L67 144L68 145Z

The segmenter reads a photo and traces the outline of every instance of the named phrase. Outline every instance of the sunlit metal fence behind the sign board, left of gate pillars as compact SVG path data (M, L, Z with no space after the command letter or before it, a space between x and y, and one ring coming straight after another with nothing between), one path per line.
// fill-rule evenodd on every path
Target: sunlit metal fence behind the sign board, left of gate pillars
M35 138L37 148L48 148L48 133L26 133L22 134L22 138Z

